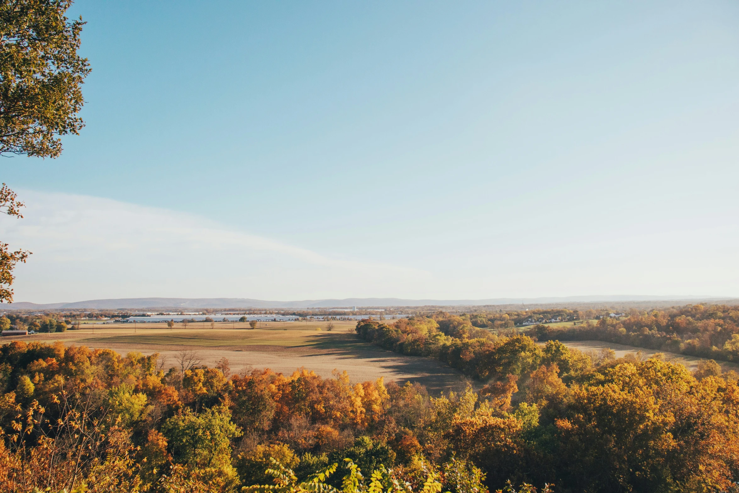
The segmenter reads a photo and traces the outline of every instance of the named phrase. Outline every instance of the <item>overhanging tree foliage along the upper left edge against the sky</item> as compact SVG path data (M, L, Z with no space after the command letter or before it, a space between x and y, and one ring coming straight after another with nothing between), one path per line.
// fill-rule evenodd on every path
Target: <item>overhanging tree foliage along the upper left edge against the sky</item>
M78 55L82 18L64 14L72 0L0 0L0 154L58 157L61 135L84 126L82 83L90 68ZM22 217L4 183L0 209ZM13 302L13 268L29 252L0 242L0 302Z

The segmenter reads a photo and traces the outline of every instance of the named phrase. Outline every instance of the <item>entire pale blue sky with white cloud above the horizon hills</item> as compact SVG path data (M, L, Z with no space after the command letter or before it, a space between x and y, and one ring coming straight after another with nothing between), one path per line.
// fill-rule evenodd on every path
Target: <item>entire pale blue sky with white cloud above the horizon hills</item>
M739 4L100 2L16 301L739 296Z

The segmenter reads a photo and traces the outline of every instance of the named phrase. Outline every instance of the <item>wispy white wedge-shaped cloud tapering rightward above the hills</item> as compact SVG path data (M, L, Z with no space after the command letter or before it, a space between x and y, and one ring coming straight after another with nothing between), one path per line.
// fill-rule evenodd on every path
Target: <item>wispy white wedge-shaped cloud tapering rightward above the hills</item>
M99 197L21 191L0 239L33 251L16 301L128 296L305 299L377 296L429 279L414 268L333 258L205 217Z

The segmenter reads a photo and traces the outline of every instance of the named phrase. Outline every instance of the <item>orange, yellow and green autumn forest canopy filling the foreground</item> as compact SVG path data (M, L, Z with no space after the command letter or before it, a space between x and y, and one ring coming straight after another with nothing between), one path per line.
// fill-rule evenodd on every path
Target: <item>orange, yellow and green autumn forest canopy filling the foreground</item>
M357 332L482 387L433 396L339 371L165 370L156 354L12 342L0 348L0 480L11 492L735 489L735 373L593 358L454 316Z

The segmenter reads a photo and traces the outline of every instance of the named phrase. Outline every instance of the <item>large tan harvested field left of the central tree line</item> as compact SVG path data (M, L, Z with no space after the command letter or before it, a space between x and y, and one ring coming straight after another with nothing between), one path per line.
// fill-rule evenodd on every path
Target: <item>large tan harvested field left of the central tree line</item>
M374 380L418 382L429 392L461 390L467 379L457 370L430 358L402 356L358 339L353 332L356 322L333 322L335 328L325 330L326 322L269 322L255 330L232 329L231 322L214 322L215 328L202 324L98 324L81 326L64 333L5 337L13 340L64 341L64 344L91 348L109 348L121 354L138 351L149 355L160 353L165 368L177 364L180 350L195 350L202 364L214 366L220 358L228 358L231 370L271 368L290 374L305 367L323 377L334 369L347 370L352 381ZM236 327L248 327L239 324ZM317 328L323 330L316 330ZM351 332L350 332L351 330Z

